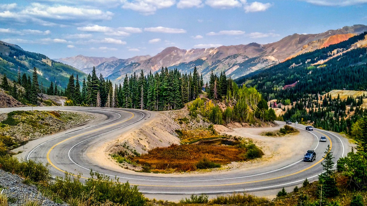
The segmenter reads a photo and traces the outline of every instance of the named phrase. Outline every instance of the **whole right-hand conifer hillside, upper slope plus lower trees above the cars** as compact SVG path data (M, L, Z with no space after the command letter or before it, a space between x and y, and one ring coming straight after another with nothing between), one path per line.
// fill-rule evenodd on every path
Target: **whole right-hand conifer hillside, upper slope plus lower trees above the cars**
M353 124L366 112L364 97L324 94L333 89L367 89L366 35L296 56L236 82L277 102L286 111L280 119L351 134Z

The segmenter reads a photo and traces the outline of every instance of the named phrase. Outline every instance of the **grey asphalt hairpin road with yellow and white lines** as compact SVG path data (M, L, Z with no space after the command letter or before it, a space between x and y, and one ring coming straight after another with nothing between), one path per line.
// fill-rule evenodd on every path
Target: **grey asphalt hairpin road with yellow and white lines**
M304 141L314 149L317 158L314 162L303 162L303 155L287 158L266 168L255 168L245 171L230 171L213 174L148 174L132 172L125 169L109 168L93 161L88 152L91 147L101 146L103 143L115 140L121 133L150 121L157 113L120 108L96 107L33 107L34 110L65 110L102 114L106 118L95 121L92 125L85 125L70 129L40 139L32 140L25 145L25 152L19 154L23 159L34 159L51 165L53 176L64 176L65 172L79 174L82 179L90 177L93 170L119 181L128 181L131 185L138 185L139 190L148 198L178 200L190 194L230 194L233 192L250 192L255 195L275 195L280 188L292 190L295 185L301 185L307 178L316 180L323 172L321 162L327 146L331 146L334 162L350 151L348 140L341 135L325 130L315 129L306 131L303 125L299 130L304 135ZM31 110L30 107L3 108L0 112L13 110ZM101 116L102 116L101 115ZM284 122L277 122L284 124ZM292 125L294 126L294 125ZM327 142L319 142L320 136L326 136ZM19 148L19 150L22 148ZM304 154L306 151L300 151ZM281 154L279 154L281 155ZM99 158L99 157L94 157Z

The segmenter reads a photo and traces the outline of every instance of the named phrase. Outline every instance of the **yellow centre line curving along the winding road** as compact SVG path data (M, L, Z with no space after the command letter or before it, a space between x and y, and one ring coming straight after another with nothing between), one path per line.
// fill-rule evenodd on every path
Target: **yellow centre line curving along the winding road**
M127 111L127 112L128 112L128 111ZM131 112L128 112L128 113L131 113ZM122 122L126 122L126 121L130 120L131 118L133 118L133 117L134 117L134 114L133 114L133 113L131 113L131 114L132 114L132 117L130 117L129 119L127 119L127 120L125 120L125 121L122 121ZM120 123L122 123L122 122L119 122L119 123L116 123L116 124L113 124L113 125L117 125L117 124L120 124ZM103 128L100 128L100 129L108 128L108 127L113 126L113 125L105 126L105 127L103 127ZM97 130L100 130L100 129L95 129L95 130L90 131L90 132L94 132L94 131L97 131ZM90 133L90 132L86 132L86 133L83 133L83 134L80 134L80 135L85 135L85 134ZM329 136L327 136L326 134L322 133L322 132L320 132L320 133L321 133L321 134L323 134L324 136L326 136L326 137L329 139L329 141L330 141L330 150L329 150L329 152L330 152L330 151L331 151L331 148L333 147L333 143L331 142L330 137L329 137ZM61 171L61 172L63 172L63 173L66 173L66 171L59 169L57 166L55 166L55 165L51 162L51 160L50 160L50 158L49 158L50 152L51 152L51 150L52 150L54 147L56 147L57 145L59 145L59 144L61 144L61 143L65 142L65 141L67 141L67 140L69 140L69 139L72 139L72 138L74 138L74 137L80 136L80 135L76 135L76 136L70 137L70 138L68 138L68 139L65 139L65 140L63 140L63 141L61 141L61 142L59 142L59 143L57 143L57 144L55 144L54 146L52 146L52 147L51 147L51 149L47 152L47 160L48 160L48 162L50 163L50 165L51 165L51 166L53 166L54 168L56 168L57 170L59 170L59 171ZM317 138L317 141L319 141L319 139L318 139L318 138ZM281 178L284 178L284 177L289 177L289 176L292 176L292 175L295 175L295 174L299 174L299 173L301 173L301 172L305 172L306 170L309 170L309 169L313 168L314 166L316 166L317 164L319 164L320 162L322 162L324 159L325 159L325 156L324 156L322 159L320 159L318 162L316 162L315 164L313 164L313 165L309 166L308 168L305 168L305 169L300 170L300 171L295 172L295 173L286 174L286 175L283 175L283 176L280 176L280 177L273 177L273 178L264 179L264 180L255 180L255 181L242 182L242 183L217 184L217 185L151 185L151 184L130 184L130 185L153 186L153 187L215 187L215 186L228 186L228 185L239 185L239 184L258 183L258 182L263 182L263 181L270 181L270 180L281 179ZM72 173L69 173L69 174L72 174ZM73 176L77 176L76 174L72 174L72 175L73 175ZM88 177L82 177L82 176L81 176L81 178L83 178L83 179L88 179Z

